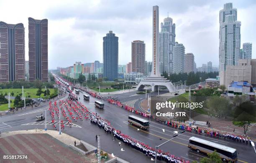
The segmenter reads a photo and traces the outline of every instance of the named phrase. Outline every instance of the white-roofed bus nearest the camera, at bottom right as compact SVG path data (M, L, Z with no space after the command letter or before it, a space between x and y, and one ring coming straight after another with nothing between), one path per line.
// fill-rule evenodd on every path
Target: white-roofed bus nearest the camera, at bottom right
M237 161L236 149L227 147L225 145L220 145L217 143L212 143L204 139L191 137L189 138L188 148L194 149L197 153L212 153L214 150L220 155L223 162L233 162Z

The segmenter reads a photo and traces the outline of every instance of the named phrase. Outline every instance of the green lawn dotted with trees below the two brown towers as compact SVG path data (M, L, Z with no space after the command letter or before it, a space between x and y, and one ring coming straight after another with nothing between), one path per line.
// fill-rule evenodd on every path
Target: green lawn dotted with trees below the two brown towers
M30 95L30 98L38 98L38 96L36 95L37 90L38 89L36 89L36 88L28 88L28 89L24 89L24 92L26 92L26 97L28 97ZM53 88L50 88L49 90L50 90L50 94L54 93ZM45 91L45 89L42 89L42 91ZM0 89L0 94L1 93L3 93L3 94L7 93L8 94L8 92L10 92L10 93L13 92L14 93L13 96L15 97L17 94L22 93L22 89L19 89L19 88L17 88L17 89ZM41 97L44 97L44 94L41 94ZM14 101L14 99L13 99L13 101Z

